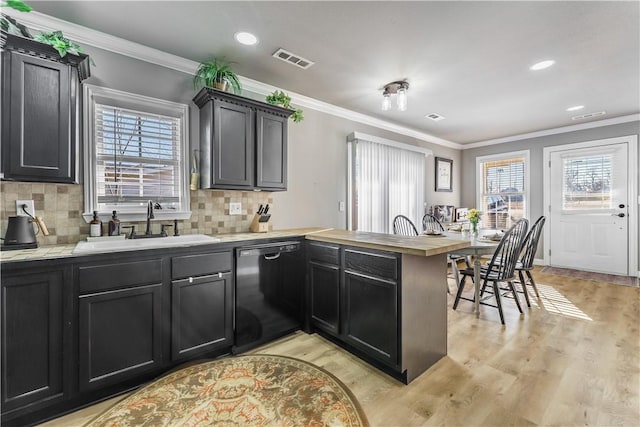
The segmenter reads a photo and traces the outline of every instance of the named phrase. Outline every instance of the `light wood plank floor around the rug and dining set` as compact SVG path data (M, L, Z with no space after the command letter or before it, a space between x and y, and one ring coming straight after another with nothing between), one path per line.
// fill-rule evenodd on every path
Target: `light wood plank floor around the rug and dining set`
M315 334L254 352L333 373L372 426L639 426L640 289L534 275L541 299L522 316L506 301L504 327L491 307L479 319L468 302L449 310L449 354L409 385ZM45 425L81 426L120 398Z

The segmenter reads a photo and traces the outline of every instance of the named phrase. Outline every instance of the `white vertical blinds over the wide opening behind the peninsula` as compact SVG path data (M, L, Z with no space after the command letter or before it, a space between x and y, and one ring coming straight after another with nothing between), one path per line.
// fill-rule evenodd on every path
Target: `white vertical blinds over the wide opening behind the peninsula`
M349 229L392 233L406 215L418 229L424 214L425 155L430 150L353 133L349 141Z

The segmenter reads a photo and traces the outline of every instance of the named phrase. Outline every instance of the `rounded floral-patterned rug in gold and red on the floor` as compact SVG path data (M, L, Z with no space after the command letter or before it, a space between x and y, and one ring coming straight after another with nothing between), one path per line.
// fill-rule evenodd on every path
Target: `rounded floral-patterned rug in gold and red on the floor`
M107 409L98 426L368 426L336 377L284 356L247 355L170 373Z

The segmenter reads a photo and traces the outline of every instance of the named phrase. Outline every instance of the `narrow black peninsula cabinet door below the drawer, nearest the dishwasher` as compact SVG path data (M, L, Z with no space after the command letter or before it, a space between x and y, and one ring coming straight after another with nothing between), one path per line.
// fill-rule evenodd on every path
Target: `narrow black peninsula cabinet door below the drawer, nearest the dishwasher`
M340 267L309 262L311 324L338 335L340 314Z

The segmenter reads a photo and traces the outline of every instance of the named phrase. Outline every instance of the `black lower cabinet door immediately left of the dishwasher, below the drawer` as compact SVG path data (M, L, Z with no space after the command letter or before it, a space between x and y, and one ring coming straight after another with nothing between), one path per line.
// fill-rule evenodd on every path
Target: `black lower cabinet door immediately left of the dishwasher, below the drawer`
M230 272L171 282L171 357L190 357L233 344Z

